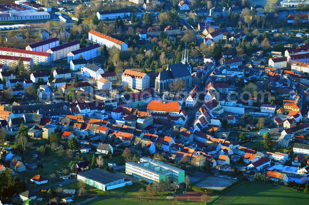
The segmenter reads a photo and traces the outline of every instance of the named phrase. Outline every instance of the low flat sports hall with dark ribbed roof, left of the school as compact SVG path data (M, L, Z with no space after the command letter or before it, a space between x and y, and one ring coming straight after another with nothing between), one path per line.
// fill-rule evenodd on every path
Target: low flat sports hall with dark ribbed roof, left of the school
M132 181L99 168L77 175L77 180L103 191L132 185Z

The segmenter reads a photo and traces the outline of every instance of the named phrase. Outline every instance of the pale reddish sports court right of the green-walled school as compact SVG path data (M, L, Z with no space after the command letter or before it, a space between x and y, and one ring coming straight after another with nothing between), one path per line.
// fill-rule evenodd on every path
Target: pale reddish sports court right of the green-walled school
M236 180L234 179L225 179L221 177L208 176L202 181L196 183L194 186L221 191L225 187L230 186L234 182L236 182Z

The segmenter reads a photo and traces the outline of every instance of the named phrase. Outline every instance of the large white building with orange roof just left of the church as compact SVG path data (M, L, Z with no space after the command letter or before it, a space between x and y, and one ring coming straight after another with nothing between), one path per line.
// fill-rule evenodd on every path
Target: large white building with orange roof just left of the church
M122 74L122 87L128 84L129 88L145 90L150 86L150 78L146 73L128 70Z

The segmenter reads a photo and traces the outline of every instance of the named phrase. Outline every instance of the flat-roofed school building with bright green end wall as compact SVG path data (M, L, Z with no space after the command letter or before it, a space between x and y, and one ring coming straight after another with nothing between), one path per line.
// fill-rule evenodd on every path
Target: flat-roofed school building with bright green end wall
M165 181L167 177L176 183L184 183L184 170L148 157L142 157L139 163L125 163L125 173L150 183Z

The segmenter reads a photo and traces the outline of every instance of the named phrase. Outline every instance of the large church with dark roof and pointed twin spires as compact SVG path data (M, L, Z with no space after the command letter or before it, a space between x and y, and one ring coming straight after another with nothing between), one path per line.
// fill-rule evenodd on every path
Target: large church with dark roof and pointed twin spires
M159 72L158 77L155 78L155 90L158 92L169 90L171 82L175 82L178 79L186 82L187 87L191 87L192 84L192 66L189 63L187 48L182 53L181 62L174 64L167 64L166 70Z

